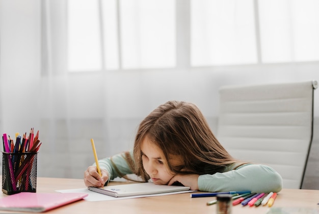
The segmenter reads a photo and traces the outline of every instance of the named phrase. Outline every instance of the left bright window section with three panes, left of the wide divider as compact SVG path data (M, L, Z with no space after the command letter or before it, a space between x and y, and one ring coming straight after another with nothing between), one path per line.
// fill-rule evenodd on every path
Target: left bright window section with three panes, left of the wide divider
M174 1L69 0L68 23L70 71L175 66Z

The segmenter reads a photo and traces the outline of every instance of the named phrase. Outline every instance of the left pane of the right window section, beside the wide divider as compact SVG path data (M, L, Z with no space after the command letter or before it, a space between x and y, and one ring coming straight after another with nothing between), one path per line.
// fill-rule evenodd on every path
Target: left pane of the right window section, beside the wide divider
M257 62L253 0L191 0L191 65Z

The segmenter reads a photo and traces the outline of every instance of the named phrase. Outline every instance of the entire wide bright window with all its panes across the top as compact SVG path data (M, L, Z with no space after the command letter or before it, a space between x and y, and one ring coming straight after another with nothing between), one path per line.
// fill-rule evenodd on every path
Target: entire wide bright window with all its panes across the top
M191 67L319 60L316 0L69 0L67 7L69 71L174 68L178 53ZM183 35L187 44L178 45Z

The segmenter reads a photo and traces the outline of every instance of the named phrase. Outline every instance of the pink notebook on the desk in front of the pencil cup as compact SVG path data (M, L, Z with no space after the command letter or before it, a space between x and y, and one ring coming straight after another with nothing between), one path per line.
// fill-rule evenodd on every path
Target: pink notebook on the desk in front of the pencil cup
M0 198L0 210L44 212L88 196L84 193L17 193Z

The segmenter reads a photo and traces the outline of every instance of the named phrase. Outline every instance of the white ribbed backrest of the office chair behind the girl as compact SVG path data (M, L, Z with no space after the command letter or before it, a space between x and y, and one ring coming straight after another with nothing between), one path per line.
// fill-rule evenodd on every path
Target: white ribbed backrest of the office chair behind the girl
M217 138L237 159L273 167L301 189L312 141L316 81L224 86Z

